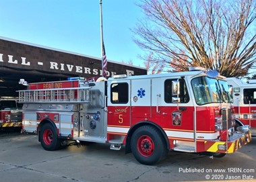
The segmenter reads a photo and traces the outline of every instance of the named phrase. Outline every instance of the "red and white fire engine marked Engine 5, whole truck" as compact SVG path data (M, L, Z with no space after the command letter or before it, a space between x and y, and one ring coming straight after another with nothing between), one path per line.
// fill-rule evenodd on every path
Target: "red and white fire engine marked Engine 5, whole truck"
M251 141L248 126L234 130L228 84L216 71L30 83L18 92L22 132L38 134L45 150L67 140L125 144L154 165L168 150L220 157Z

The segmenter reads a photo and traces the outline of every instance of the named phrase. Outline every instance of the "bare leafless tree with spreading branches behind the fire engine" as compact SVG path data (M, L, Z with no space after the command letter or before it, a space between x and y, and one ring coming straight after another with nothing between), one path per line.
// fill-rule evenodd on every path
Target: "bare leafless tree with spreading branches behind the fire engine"
M240 77L254 68L255 0L141 0L135 43L172 71L189 66Z

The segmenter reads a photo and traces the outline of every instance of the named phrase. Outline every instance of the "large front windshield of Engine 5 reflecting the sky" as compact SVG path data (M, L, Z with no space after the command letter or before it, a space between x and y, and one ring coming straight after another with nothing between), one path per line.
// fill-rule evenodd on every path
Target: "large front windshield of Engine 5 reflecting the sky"
M210 77L197 77L191 81L195 101L198 105L206 103L231 102L226 81Z

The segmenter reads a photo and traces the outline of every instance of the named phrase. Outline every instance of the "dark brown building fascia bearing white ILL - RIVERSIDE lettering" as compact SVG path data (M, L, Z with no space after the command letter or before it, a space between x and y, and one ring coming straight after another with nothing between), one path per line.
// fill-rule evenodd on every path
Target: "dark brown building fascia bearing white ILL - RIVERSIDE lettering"
M79 77L102 76L101 59L32 46L0 38L0 66L31 73L58 73ZM107 77L113 75L146 75L146 69L108 60ZM1 71L1 67L0 67Z

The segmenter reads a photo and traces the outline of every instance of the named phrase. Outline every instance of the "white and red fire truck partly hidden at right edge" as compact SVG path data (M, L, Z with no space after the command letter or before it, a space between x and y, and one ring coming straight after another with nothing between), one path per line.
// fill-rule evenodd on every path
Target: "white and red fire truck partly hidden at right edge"
M249 125L256 136L256 80L245 83L236 78L226 78L232 92L234 113L240 125Z

